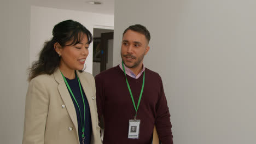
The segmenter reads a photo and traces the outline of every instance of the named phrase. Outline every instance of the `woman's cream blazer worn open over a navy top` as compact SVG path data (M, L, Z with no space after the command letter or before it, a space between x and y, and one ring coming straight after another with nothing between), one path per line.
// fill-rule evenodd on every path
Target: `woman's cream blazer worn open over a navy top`
M77 75L90 106L91 144L102 143L98 126L94 77L79 71ZM26 96L22 143L79 143L75 107L59 69L54 74L39 75L30 81Z

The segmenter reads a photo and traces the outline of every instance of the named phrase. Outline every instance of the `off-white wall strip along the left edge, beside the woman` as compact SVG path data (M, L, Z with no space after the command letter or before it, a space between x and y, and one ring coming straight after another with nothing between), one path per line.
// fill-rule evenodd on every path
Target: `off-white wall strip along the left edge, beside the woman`
M21 143L30 53L30 3L0 1L0 143Z

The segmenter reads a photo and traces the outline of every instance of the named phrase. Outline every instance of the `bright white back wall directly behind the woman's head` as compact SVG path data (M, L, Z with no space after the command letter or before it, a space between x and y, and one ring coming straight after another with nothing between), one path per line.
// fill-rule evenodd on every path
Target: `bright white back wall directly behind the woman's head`
M94 27L114 26L113 15L31 6L30 62L37 59L37 55L42 49L44 42L52 38L51 32L53 27L57 23L68 19L82 23L91 33L93 33ZM87 65L85 71L92 74L92 44L89 47L89 56L86 58L85 63Z

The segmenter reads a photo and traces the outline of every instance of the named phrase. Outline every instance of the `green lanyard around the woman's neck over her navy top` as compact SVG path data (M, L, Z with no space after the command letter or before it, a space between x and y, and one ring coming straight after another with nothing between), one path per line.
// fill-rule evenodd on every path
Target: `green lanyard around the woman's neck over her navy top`
M62 73L61 73L61 75L63 76ZM75 73L75 75L77 76L77 73ZM82 124L82 138L84 139L85 104L84 104L84 123L82 123L82 115L81 115L80 107L79 107L79 105L78 105L78 103L77 103L77 99L75 99L74 94L73 94L73 92L71 91L71 88L69 87L68 82L67 82L67 80L66 80L66 78L65 78L64 76L63 76L63 79L64 79L64 81L65 81L65 83L66 83L66 86L68 87L69 92L71 93L72 97L74 98L75 103L76 103L77 106L78 106L79 114L80 114L80 118L81 118L81 124ZM78 76L77 76L77 80L78 80L78 83L79 83L79 88L80 88L80 92L81 92L81 95L82 95L82 98L83 98L83 103L84 103L84 96L83 96L83 92L82 92L82 88L81 88L81 84L80 84L80 81L79 81Z

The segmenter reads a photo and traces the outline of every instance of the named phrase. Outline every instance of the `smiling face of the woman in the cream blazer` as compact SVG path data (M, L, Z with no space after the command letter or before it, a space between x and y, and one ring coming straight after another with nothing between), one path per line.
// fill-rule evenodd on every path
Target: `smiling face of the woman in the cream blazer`
M62 70L82 70L84 68L85 59L89 54L87 35L83 34L83 39L75 45L64 46L60 49L61 55L60 69ZM68 41L66 45L72 43Z

